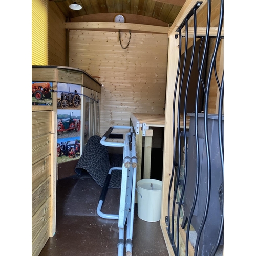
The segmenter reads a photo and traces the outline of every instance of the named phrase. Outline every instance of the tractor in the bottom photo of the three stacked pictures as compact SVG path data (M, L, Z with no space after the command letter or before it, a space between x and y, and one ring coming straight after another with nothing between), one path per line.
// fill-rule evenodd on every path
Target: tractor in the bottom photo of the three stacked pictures
M74 158L80 155L80 143L78 140L57 143L57 157L61 155Z

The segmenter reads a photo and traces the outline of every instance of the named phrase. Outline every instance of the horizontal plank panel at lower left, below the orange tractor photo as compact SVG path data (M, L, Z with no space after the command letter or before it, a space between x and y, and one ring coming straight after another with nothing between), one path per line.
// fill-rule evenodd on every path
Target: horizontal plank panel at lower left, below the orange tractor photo
M51 234L52 111L32 111L32 256Z

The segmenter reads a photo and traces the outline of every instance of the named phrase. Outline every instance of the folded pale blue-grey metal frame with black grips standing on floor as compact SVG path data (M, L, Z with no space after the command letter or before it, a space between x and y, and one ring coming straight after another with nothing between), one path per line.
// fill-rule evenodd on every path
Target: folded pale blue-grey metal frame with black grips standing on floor
M124 143L108 142L106 139L110 136L113 129L130 129L130 132L125 134ZM102 192L99 198L97 207L97 214L105 219L118 220L119 227L119 240L117 244L118 256L123 255L124 246L126 247L126 256L132 255L132 239L133 239L133 221L134 221L134 204L135 204L135 191L136 191L136 170L137 170L137 157L136 157L136 140L135 133L132 126L112 126L102 136L100 143L104 146L110 147L123 147L123 164L122 167L113 167L109 170L106 177ZM122 171L121 192L119 214L104 214L101 212L101 207L104 203L106 193L108 191L109 182L111 179L112 170ZM124 226L126 229L126 243L124 244Z

